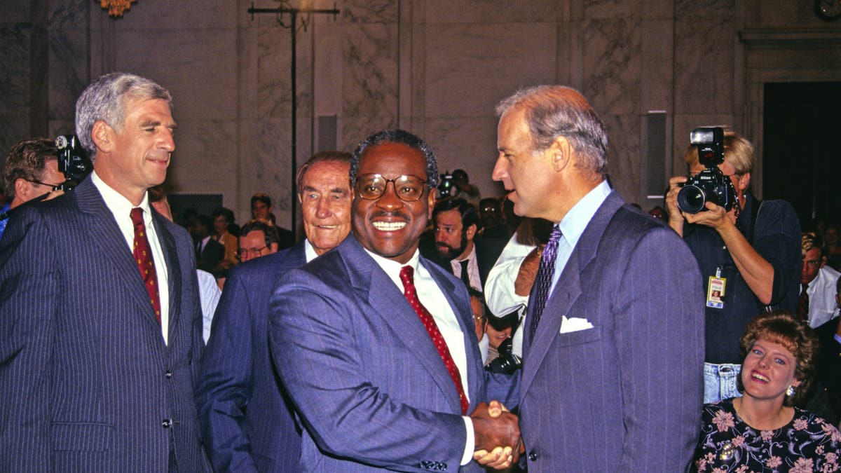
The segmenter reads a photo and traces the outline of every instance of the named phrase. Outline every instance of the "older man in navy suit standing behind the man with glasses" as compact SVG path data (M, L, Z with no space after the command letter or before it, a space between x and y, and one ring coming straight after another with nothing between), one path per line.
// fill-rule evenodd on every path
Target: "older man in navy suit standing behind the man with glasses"
M204 443L217 471L298 470L301 433L269 357L268 300L280 276L351 231L350 163L350 153L339 151L305 162L297 180L306 239L228 274L196 387Z

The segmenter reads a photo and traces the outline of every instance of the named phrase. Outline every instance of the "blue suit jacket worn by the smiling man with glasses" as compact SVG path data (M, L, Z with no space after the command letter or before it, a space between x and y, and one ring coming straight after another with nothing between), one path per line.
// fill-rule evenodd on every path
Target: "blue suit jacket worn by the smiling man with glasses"
M462 327L469 412L488 396L510 406L516 378L484 371L467 288L420 261ZM355 237L281 278L269 339L306 428L299 470L459 469L466 429L452 378L403 292Z

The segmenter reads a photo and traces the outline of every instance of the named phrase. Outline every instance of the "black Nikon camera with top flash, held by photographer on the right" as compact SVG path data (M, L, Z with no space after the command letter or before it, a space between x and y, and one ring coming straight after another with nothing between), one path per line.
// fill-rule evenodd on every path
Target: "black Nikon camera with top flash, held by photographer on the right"
M696 176L689 176L678 184L678 207L687 214L706 210L706 202L721 205L724 210L736 203L736 188L718 165L724 162L724 130L721 127L701 127L692 130L690 143L698 148L698 161L706 167Z

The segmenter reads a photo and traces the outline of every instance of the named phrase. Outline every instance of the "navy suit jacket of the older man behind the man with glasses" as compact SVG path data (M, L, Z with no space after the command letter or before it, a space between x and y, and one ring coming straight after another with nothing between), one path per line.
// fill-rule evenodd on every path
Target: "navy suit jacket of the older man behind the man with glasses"
M217 471L294 471L301 453L288 396L268 349L275 281L306 263L304 242L230 270L196 386L204 444Z

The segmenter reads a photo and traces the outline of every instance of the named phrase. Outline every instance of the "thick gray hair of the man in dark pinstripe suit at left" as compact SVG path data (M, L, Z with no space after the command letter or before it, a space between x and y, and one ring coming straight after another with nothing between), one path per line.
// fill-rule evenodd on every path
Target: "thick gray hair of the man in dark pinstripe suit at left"
M93 124L104 121L114 130L122 130L125 104L130 100L166 100L172 111L172 95L156 82L129 74L111 72L91 82L76 101L76 135L93 162L97 146L93 143Z

